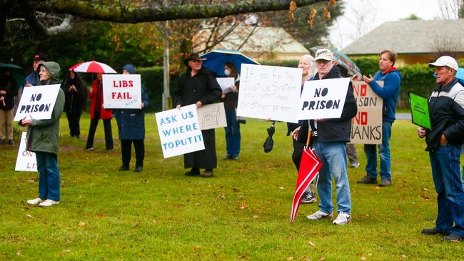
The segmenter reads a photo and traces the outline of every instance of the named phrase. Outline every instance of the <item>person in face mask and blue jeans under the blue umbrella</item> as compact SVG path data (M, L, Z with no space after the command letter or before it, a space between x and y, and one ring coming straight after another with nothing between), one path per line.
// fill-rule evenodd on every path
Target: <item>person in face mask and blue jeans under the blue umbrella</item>
M238 103L238 88L240 87L240 75L233 63L226 63L224 66L224 74L228 77L233 77L235 85L232 86L232 91L221 95L224 102L224 110L226 111L227 126L226 130L226 150L227 155L224 160L238 160L240 153L240 124L237 121L237 103Z

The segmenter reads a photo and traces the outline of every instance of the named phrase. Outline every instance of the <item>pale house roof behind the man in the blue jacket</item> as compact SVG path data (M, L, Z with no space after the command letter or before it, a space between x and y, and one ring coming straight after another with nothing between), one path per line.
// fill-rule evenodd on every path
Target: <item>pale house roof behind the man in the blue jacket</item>
M396 53L464 52L464 19L388 21L361 36L341 51L348 55Z

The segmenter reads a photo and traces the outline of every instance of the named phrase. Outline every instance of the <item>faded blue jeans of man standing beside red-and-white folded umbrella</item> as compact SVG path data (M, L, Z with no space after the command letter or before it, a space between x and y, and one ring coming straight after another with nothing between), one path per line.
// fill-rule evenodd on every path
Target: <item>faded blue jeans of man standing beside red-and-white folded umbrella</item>
M332 176L336 183L337 212L351 213L351 195L348 175L346 173L346 143L316 141L316 154L322 161L319 170L318 193L319 209L324 213L332 213Z

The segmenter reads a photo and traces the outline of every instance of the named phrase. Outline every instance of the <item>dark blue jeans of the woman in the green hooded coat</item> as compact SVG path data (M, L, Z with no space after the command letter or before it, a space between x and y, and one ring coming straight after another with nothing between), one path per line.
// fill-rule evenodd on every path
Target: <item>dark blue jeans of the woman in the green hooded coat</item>
M42 200L60 200L60 173L56 154L36 152L39 171L39 198Z

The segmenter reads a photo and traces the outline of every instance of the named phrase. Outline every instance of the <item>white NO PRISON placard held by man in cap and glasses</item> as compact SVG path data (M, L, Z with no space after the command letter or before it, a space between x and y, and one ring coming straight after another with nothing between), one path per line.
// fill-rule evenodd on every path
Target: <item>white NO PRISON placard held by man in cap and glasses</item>
M298 120L340 118L350 78L306 81L298 105Z

